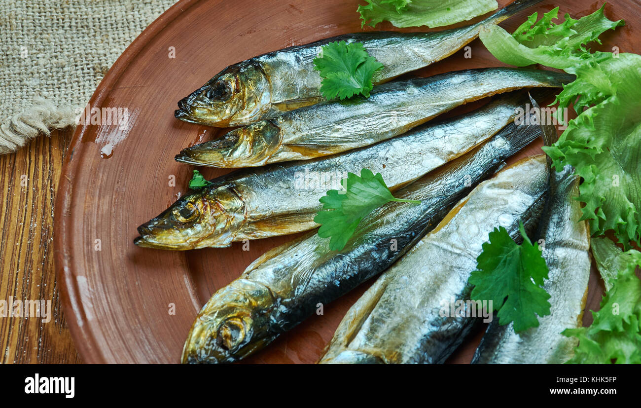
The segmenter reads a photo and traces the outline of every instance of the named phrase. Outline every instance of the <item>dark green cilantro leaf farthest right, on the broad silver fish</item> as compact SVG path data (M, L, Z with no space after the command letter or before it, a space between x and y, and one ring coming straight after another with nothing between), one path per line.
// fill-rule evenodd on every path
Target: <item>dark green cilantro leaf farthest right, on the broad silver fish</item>
M472 299L492 300L499 310L500 325L514 322L519 333L538 326L538 316L550 314L550 295L543 289L549 269L538 243L532 244L523 224L519 226L523 243L517 245L502 226L490 232L478 256L478 270L469 283L474 285Z

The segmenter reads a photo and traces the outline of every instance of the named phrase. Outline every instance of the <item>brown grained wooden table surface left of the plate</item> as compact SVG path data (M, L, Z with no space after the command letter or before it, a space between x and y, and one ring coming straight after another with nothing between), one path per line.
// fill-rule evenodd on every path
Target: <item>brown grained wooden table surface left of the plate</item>
M4 364L82 362L60 307L52 256L53 205L72 134L56 130L0 155L0 300L51 300L52 314L48 323L0 317Z

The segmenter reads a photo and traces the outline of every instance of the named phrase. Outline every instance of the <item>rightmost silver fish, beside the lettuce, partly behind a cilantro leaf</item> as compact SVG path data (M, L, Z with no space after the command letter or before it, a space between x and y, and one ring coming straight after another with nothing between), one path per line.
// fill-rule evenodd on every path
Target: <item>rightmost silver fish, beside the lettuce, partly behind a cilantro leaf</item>
M493 321L472 362L481 364L561 364L574 354L576 337L561 334L581 327L585 294L590 278L590 234L581 218L579 178L566 167L554 173L550 202L542 221L543 256L549 268L544 288L550 294L549 316L538 318L538 327L516 334L512 323Z

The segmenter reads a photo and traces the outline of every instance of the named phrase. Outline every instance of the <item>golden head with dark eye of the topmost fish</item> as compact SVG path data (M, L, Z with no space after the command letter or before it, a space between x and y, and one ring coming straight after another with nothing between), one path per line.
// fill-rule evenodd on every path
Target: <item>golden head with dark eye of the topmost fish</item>
M185 122L227 127L253 123L270 106L271 86L257 64L225 69L178 102L174 115Z

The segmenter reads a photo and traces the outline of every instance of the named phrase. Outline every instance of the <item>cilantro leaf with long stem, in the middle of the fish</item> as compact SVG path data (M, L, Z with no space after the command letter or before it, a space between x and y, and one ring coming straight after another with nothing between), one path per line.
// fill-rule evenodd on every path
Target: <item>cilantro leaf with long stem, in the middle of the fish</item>
M320 198L323 207L314 217L314 222L320 224L319 237L331 237L329 249L332 251L345 248L363 217L381 205L390 201L420 203L395 198L385 185L381 173L374 175L369 169L362 169L360 177L347 173L347 178L340 183L345 192L329 190Z

